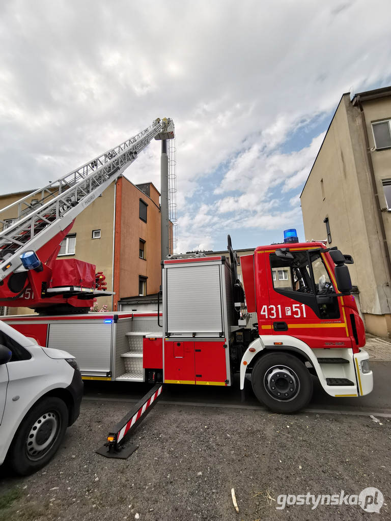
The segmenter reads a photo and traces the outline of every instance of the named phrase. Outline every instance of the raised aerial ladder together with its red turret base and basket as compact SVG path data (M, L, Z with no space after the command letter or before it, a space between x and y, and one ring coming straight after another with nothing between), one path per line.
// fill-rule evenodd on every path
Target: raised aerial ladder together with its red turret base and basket
M174 138L172 119L157 118L115 148L95 157L66 176L51 181L0 209L14 210L13 222L0 219L0 306L26 306L39 312L85 312L95 296L113 294L96 287L95 274L78 286L59 284L60 243L76 217L115 181L153 140ZM34 200L32 203L31 201ZM81 270L89 263L80 263ZM82 266L83 265L83 266ZM91 270L90 270L91 271ZM56 280L54 285L52 281Z

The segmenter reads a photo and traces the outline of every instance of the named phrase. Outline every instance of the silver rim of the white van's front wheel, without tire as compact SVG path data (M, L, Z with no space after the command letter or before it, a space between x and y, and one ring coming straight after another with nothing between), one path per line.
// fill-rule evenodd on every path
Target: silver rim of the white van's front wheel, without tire
M61 426L59 415L54 412L42 414L31 426L26 440L29 460L40 460L52 448Z

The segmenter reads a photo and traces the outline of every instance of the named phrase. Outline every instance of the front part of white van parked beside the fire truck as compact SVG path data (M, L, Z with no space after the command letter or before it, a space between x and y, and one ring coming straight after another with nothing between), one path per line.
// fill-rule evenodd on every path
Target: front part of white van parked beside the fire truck
M22 475L46 465L79 416L82 392L74 356L0 320L0 465Z

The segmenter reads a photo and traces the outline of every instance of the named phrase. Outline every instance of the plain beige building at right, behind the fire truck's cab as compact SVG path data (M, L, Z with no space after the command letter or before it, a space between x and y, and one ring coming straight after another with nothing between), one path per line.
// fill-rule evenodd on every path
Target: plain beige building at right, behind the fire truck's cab
M391 336L391 87L340 99L300 196L307 240L351 254L366 330Z

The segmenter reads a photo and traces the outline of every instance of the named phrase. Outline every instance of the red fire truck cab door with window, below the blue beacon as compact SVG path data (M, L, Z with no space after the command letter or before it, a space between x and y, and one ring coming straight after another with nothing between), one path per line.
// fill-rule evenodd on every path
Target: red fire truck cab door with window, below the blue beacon
M272 334L299 338L312 349L351 347L343 305L340 297L332 296L338 290L324 254L319 248L291 248L289 253L290 258L270 253Z

